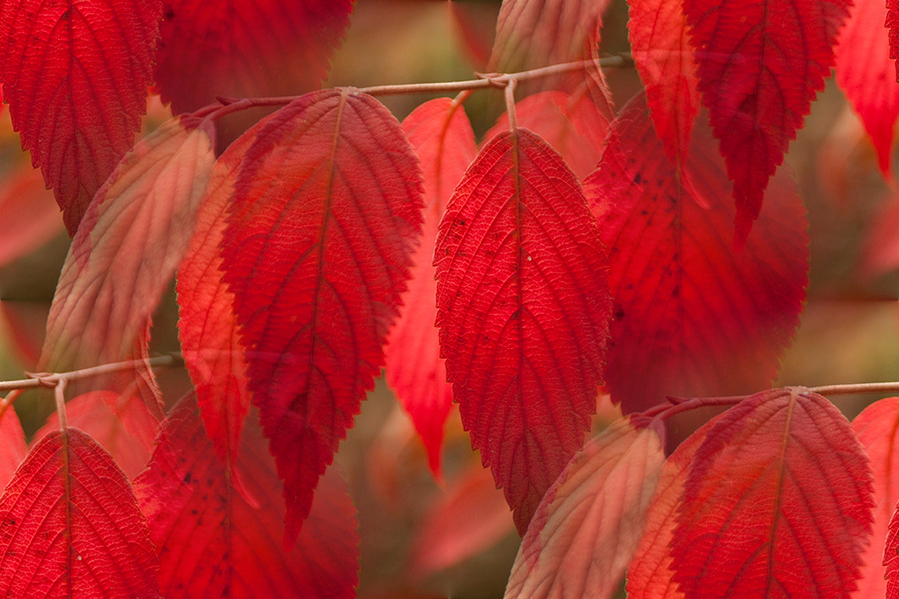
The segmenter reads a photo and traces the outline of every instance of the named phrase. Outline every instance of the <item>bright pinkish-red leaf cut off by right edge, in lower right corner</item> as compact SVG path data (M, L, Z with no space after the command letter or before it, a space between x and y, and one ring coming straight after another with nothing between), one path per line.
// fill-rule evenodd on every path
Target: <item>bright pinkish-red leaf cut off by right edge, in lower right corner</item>
M890 519L899 503L899 397L871 404L852 421L852 430L871 460L874 472L874 534L865 551L861 580L855 597L884 597L883 560Z

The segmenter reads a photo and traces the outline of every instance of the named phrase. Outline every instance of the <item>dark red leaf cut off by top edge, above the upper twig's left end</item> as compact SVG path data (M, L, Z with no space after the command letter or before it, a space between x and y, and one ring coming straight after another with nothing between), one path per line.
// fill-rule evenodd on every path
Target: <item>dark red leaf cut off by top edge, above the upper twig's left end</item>
M173 112L216 96L295 95L321 84L353 0L166 0L156 83Z

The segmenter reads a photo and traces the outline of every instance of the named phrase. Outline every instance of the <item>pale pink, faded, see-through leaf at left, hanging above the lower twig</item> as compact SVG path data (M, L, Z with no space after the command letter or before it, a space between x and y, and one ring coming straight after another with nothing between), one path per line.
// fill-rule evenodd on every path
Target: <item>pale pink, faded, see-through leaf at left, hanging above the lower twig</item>
M214 160L207 134L177 119L125 157L66 257L41 368L62 372L139 357L135 345L187 247Z

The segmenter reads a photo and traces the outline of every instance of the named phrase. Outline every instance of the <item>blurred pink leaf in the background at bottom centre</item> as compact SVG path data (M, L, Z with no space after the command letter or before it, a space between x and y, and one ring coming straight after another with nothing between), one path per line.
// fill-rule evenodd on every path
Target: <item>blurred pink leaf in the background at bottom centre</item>
M423 578L458 565L514 531L509 506L480 465L449 483L428 506L412 544L412 575Z

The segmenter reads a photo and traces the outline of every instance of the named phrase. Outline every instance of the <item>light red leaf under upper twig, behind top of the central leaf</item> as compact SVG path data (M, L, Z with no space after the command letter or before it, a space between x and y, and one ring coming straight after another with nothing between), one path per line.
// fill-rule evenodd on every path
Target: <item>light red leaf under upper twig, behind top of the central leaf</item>
M579 179L589 175L599 161L602 144L594 140L602 140L609 128L609 121L596 110L585 91L537 92L515 105L518 126L532 130L549 143ZM508 130L509 115L504 112L484 139Z

